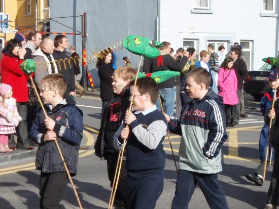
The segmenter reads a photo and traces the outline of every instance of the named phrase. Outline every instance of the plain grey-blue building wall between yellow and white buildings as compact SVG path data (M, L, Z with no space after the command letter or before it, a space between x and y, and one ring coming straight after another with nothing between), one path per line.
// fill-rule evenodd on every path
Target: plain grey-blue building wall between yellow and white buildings
M75 16L87 13L87 55L110 47L131 34L144 35L157 39L157 0L60 0L51 2L51 17ZM59 19L59 22L81 31L81 18ZM73 30L50 22L51 32L73 32ZM51 36L54 37L54 36ZM81 36L67 35L70 45L82 54ZM117 66L122 66L123 56L130 58L137 67L140 56L129 53L126 49L116 52ZM94 83L99 85L95 64L89 64Z

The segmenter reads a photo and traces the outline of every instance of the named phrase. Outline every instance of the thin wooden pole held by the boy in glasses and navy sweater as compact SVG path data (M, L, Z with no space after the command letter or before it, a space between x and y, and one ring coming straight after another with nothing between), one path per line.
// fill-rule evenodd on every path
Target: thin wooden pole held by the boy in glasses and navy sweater
M129 113L131 113L131 109L132 109L136 81L137 81L138 73L140 72L140 67L141 67L142 60L143 60L143 55L141 56L140 64L138 64L138 68L137 68L137 72L136 72L136 77L135 77L135 81L134 81L134 89L133 89L132 98L131 98L130 107L129 107ZM126 126L126 128L128 128L128 125ZM109 202L109 207L108 207L109 209L112 209L112 206L113 206L114 197L115 197L115 194L116 194L118 181L119 181L119 177L120 177L120 171L121 171L121 166L122 166L122 160L123 160L124 149L125 149L125 146L126 146L126 141L127 141L127 139L124 139L123 148L118 154L118 161L117 161L117 166L116 166L116 171L115 171L114 181L113 181L113 187L112 187L112 192L111 192L111 197L110 197L110 202Z

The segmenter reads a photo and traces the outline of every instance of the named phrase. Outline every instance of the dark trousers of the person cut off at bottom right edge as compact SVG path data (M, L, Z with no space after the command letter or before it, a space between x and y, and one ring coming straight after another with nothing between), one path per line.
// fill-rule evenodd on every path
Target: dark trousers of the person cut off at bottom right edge
M271 182L267 194L267 203L278 206L279 199L279 149L275 148Z

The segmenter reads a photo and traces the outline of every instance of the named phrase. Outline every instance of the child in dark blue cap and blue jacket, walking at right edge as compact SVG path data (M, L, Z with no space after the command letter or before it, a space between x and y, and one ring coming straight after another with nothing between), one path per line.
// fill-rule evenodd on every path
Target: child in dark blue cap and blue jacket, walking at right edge
M274 92L275 90L278 89L279 86L279 79L277 80L276 83L276 75L277 75L277 70L273 69L271 70L269 76L268 76L268 83L270 86L270 89L268 92L264 94L264 96L261 99L261 112L264 115L268 113L270 108L272 107L272 101L274 97ZM276 91L276 97L278 97L279 92ZM266 154L266 148L268 146L268 132L269 132L269 122L265 123L261 134L260 134L260 140L259 140L259 151L260 151L260 160L261 164L258 166L258 168L254 171L254 175L251 174L246 174L245 177L251 181L254 182L257 186L262 186L263 185L263 172L264 172L264 161L265 161L265 154ZM271 147L269 147L271 148ZM270 150L270 149L269 149ZM274 153L274 150L273 150ZM273 157L271 158L273 159ZM268 156L267 161L270 160L270 156ZM267 163L268 165L269 163Z

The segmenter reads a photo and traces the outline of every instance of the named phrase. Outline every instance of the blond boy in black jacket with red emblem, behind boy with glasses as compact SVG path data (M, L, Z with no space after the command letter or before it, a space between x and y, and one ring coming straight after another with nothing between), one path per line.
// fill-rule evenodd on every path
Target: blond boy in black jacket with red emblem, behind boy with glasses
M108 177L111 186L114 182L115 171L118 160L118 150L114 149L113 137L129 108L130 88L129 83L136 75L134 69L122 66L113 72L113 97L104 107L100 131L94 145L95 154L107 160ZM118 182L117 191L114 198L114 206L123 209L127 208L126 192L126 169L121 167L121 176Z

